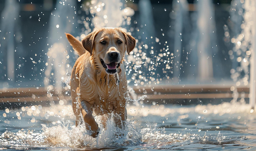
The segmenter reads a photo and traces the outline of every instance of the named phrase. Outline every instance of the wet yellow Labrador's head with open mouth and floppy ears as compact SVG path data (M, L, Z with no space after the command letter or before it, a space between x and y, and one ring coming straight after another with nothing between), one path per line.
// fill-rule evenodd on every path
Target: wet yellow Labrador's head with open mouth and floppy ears
M82 44L96 61L100 61L108 74L117 72L124 57L135 47L136 40L121 28L99 28L88 34Z

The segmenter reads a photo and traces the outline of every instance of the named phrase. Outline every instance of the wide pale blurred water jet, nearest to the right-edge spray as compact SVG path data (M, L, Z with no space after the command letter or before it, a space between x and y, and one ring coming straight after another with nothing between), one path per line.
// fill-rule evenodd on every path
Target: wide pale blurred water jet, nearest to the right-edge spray
M213 78L212 54L215 49L215 21L210 0L195 0L198 10L198 78L209 81Z

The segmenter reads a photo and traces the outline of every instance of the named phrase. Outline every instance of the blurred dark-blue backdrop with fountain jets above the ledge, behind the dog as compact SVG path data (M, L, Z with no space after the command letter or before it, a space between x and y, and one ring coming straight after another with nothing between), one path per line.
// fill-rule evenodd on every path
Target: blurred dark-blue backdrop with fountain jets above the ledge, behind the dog
M253 5L252 0L1 0L0 88L68 90L78 56L65 33L82 40L94 27L122 27L136 38L124 63L130 87L248 87Z

